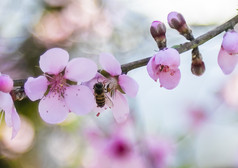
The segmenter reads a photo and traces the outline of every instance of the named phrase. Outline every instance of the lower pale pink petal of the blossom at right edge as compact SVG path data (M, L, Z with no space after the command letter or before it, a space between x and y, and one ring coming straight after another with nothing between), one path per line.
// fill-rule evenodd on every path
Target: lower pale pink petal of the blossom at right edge
M224 74L230 74L238 62L238 55L229 54L222 47L218 54L218 64Z

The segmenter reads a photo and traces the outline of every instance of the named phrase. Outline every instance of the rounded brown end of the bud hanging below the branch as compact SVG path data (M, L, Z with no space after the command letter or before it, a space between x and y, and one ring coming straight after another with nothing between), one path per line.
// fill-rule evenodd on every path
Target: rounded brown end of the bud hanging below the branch
M201 76L205 72L205 64L201 57L196 57L192 60L191 71L197 76Z

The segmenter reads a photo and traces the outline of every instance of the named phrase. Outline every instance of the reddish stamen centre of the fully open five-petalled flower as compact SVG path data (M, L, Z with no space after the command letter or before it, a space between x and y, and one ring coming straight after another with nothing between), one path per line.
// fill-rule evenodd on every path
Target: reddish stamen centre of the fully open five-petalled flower
M64 97L64 93L68 84L62 73L48 77L49 81L49 92L58 94Z

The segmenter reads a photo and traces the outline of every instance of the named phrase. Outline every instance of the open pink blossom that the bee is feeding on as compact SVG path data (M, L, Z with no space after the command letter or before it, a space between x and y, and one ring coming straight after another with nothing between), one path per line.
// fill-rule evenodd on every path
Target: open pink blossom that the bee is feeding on
M126 74L122 74L121 65L111 54L101 54L100 64L103 71L87 84L91 89L101 82L105 88L105 106L96 107L95 111L102 112L108 107L112 109L113 116L118 123L124 122L129 114L129 105L124 94L135 97L138 84ZM98 113L98 114L99 114Z

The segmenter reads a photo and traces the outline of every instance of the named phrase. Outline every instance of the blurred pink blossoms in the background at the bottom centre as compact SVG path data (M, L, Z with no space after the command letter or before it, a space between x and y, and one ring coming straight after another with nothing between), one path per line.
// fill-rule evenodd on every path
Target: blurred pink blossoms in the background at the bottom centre
M113 127L112 130L88 129L85 132L89 152L85 168L164 168L169 167L169 159L173 158L175 144L169 138L152 135L141 137L140 141L130 136L130 121ZM84 160L83 159L83 160Z

